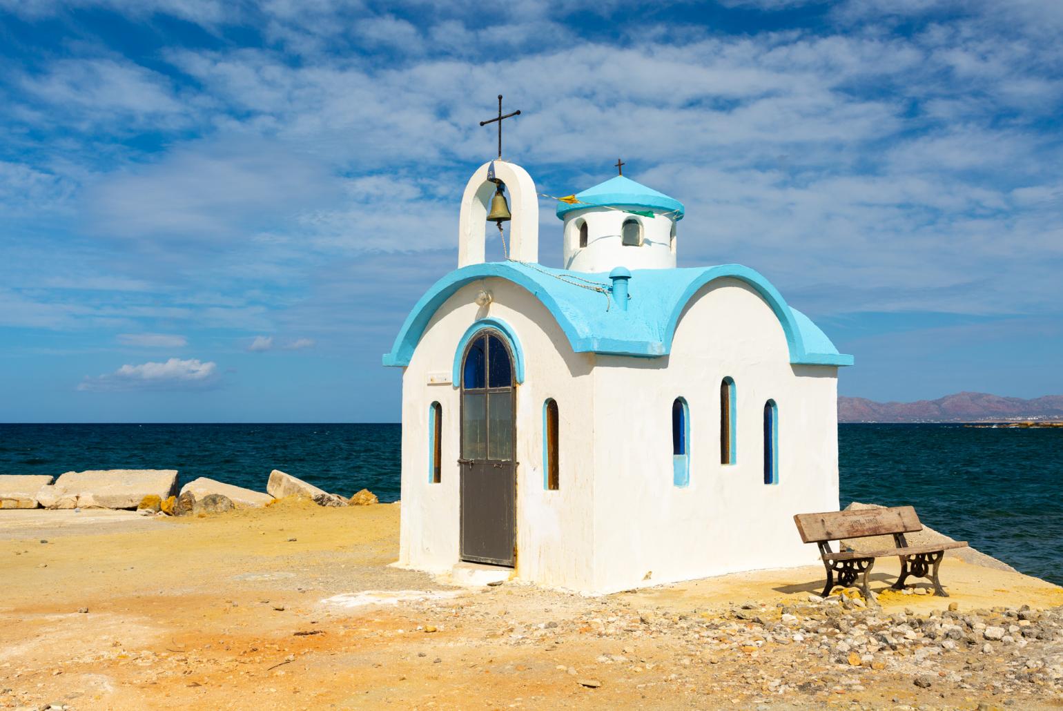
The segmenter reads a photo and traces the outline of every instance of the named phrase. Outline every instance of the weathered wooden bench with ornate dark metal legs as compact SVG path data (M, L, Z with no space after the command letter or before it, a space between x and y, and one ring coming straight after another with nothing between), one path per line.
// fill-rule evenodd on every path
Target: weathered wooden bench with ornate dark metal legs
M966 541L951 543L930 543L927 545L908 545L905 534L923 530L919 518L911 506L894 508L855 509L851 511L827 511L826 513L798 513L794 517L797 531L806 543L820 546L823 565L827 569L827 586L823 589L826 597L834 587L834 575L838 585L846 588L861 577L860 590L864 598L874 602L867 588L867 575L875 565L876 558L897 556L900 558L900 576L893 583L894 590L904 590L905 580L909 576L927 578L933 583L934 593L942 597L948 594L942 589L938 579L938 566L949 548L962 548ZM867 538L870 536L893 536L896 547L883 551L841 551L830 549L831 541ZM840 543L839 543L840 545Z

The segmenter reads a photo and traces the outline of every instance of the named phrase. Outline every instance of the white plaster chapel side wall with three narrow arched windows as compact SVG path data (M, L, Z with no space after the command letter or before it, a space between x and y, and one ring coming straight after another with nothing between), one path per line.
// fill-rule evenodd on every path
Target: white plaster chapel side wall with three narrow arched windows
M637 298L637 276L630 291ZM720 462L725 376L736 384L735 464ZM837 368L790 365L778 319L737 280L695 295L669 357L600 356L593 589L815 562L793 514L838 509L836 386ZM672 465L678 396L690 412L690 484L681 488ZM777 485L763 484L769 399L778 405Z

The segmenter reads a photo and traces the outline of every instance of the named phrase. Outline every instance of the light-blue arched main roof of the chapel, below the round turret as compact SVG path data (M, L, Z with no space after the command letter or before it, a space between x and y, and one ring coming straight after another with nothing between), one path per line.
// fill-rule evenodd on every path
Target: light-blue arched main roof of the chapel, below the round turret
M668 355L679 318L694 294L710 282L732 277L749 285L771 307L786 334L791 363L851 366L854 362L853 356L840 354L808 317L791 308L764 276L748 267L722 265L705 269L637 270L630 283L634 300L628 311L618 308L606 311L601 307L598 293L554 278L566 273L538 265L533 268L506 261L457 269L436 282L417 302L383 362L385 366L408 366L436 310L461 287L489 277L504 278L536 297L554 317L575 353L635 357ZM689 281L684 284L676 278L679 274L690 275ZM597 275L597 280L606 282L607 277ZM677 283L681 285L678 293ZM569 292L562 303L557 297L563 289ZM611 295L608 298L611 301ZM641 304L641 308L634 307L635 304ZM658 310L655 312L655 309Z

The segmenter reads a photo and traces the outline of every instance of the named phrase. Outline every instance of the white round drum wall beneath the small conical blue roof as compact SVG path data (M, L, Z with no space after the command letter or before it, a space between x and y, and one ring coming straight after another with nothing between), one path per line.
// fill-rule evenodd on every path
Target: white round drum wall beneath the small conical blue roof
M642 224L641 247L625 247L621 226L625 220ZM579 223L587 222L587 247L579 247ZM566 269L579 272L608 272L613 267L628 269L672 269L675 249L671 218L630 215L615 209L577 209L564 215L563 261ZM678 238L676 238L678 239Z

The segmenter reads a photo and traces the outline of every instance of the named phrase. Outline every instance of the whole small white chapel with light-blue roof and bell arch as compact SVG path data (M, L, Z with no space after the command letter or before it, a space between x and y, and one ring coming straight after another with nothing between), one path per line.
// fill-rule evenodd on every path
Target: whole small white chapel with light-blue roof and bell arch
M399 564L604 593L816 561L793 514L838 509L853 356L753 269L677 268L679 201L617 175L557 205L562 269L538 264L528 173L480 166L458 268L384 356L403 369ZM507 258L485 261L504 221Z

